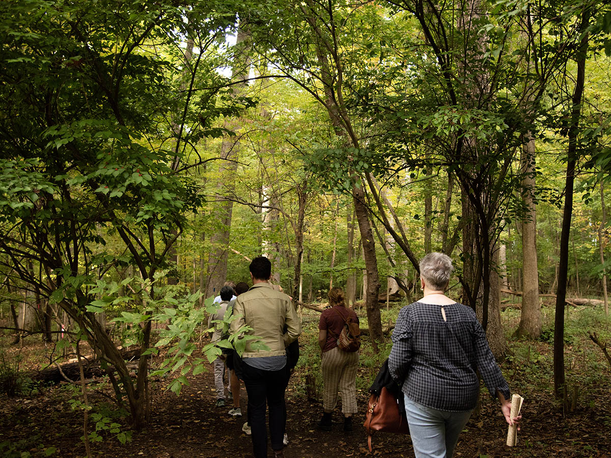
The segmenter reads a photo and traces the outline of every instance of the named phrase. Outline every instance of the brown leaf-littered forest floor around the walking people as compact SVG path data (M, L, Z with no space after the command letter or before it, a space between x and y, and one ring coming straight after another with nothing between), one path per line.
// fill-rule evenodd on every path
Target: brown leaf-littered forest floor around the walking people
M511 320L514 316L503 319ZM304 319L305 329L312 328L315 321L315 313ZM354 432L345 434L342 431L339 408L334 413L334 421L338 423L334 424L332 432L316 429L321 405L308 401L304 393L305 374L320 371L320 366L315 362L317 355L309 354L313 346L310 342L312 336L310 329L300 340L302 358L287 390L289 443L285 456L414 456L408 435L375 435L373 454L367 449L367 435L362 426L368 400L366 387L375 377L378 365L378 360L367 351L362 354L357 380L357 401L362 409L355 417ZM20 352L22 356L49 352L48 347L35 343L34 338L29 338L23 349L7 347L7 335L1 335L0 340L3 340L0 346L4 345L5 357L15 352ZM568 346L567 371L571 373L568 379L574 380L573 385L569 386L579 389L573 388L576 390L573 410L563 412L549 387L552 377L549 372L551 345L546 342L510 342L510 346L513 347L512 356L503 363L503 373L512 390L525 398L519 445L514 448L505 446L507 424L497 402L483 389L480 412L472 416L461 434L455 457L611 458L611 371L605 366L602 352L598 348L590 349L593 344L588 344L587 336L584 338L583 335L579 341L573 342L573 346ZM578 349L580 346L588 346L588 351ZM573 349L575 354L572 353ZM594 358L594 363L591 358ZM21 369L34 365L34 361L35 358L24 357ZM244 388L241 390L244 416L235 418L227 413L231 407L229 402L225 407L215 407L211 371L189 377L189 383L178 397L165 390L165 383L152 383L153 415L150 426L142 432L133 432L131 440L125 445L117 440L116 434L100 433L103 440L92 443L92 455L113 458L252 456L251 438L241 431L246 421ZM111 409L104 410L104 405L111 405L109 387L101 384L96 388L94 385L88 389L90 404L97 406L92 412L112 416L109 413ZM43 388L28 396L0 397L0 456L85 456L81 440L83 411L71 409L71 403L79 399L79 387L70 383ZM121 421L124 419L117 420L118 423ZM95 422L90 421L91 427L95 427ZM125 431L123 426L120 429Z

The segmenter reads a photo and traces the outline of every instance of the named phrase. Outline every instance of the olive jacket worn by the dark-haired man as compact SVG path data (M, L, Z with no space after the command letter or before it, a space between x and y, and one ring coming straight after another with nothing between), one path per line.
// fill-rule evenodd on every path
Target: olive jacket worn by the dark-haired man
M249 334L258 336L269 347L269 351L252 351L247 345L243 358L284 355L288 344L301 334L301 321L291 298L269 283L257 283L240 294L233 304L233 314L238 318L231 323L232 333L244 324L249 325L252 328Z

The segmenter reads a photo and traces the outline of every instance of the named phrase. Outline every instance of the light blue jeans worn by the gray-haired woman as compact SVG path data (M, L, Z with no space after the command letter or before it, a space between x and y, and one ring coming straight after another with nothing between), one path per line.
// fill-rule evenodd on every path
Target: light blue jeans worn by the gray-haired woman
M458 435L473 410L432 409L405 396L405 413L416 458L452 458Z

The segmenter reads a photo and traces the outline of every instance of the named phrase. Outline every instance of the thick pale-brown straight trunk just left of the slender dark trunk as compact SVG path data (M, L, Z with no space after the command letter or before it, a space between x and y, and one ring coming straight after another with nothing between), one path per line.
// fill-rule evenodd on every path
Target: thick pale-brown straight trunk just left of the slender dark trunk
M538 339L541 335L541 302L539 270L536 255L535 139L529 133L522 148L522 199L527 208L522 220L522 313L516 335Z

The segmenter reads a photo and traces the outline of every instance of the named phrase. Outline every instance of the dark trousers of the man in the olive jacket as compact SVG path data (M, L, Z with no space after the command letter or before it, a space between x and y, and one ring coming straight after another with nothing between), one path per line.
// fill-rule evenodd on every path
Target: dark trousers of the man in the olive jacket
M282 450L284 428L287 423L284 391L287 388L287 369L264 371L244 363L244 386L248 394L248 420L252 429L252 449L255 458L267 458L267 428L265 407L269 409L271 448Z

